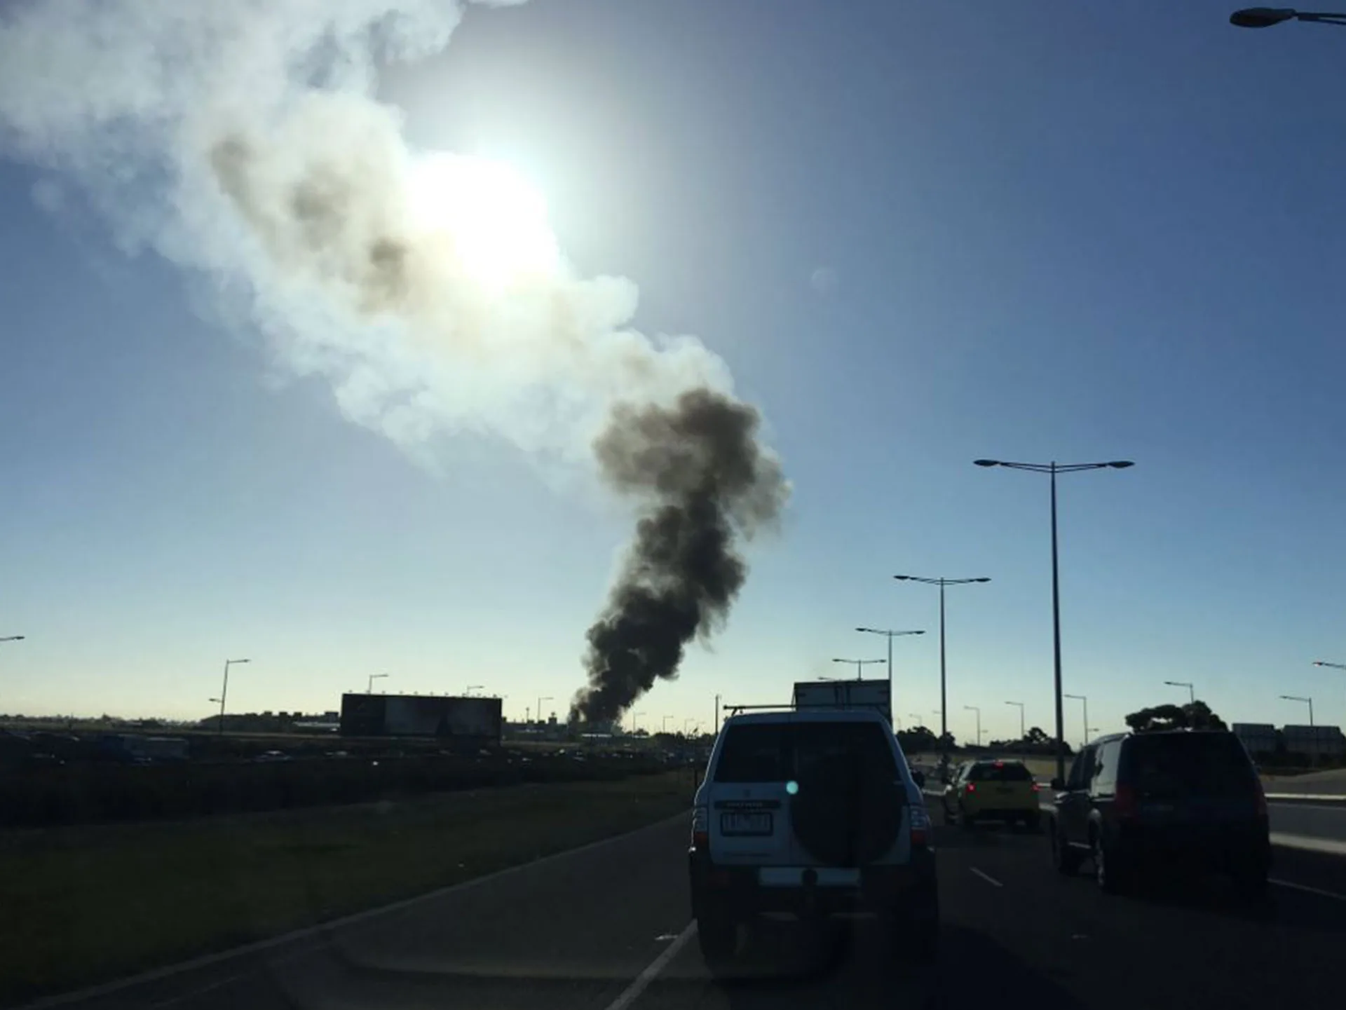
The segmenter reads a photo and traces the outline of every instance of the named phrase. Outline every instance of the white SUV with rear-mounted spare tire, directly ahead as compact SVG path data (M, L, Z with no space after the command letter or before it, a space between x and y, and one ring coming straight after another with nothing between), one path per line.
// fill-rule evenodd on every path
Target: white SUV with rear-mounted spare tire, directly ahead
M692 812L692 915L712 967L763 912L871 912L933 959L940 898L925 799L874 710L732 715Z

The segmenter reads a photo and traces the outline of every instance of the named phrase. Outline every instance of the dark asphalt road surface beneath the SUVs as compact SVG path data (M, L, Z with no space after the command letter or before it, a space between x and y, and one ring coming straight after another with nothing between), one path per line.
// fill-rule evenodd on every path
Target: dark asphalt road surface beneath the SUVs
M935 820L940 815L935 814ZM742 978L689 928L685 824L65 1005L322 1010L812 1010L1335 1006L1346 858L1277 849L1267 905L1218 880L1128 897L1061 878L1046 839L938 827L940 962L900 967L853 923L832 943L767 925ZM633 987L634 983L634 987Z

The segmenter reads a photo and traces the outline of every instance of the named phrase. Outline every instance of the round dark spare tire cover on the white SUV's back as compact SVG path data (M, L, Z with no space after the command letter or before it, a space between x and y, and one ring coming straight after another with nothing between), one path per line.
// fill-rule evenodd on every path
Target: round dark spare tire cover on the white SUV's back
M824 866L863 866L887 853L902 830L900 784L841 754L806 777L790 798L795 841Z

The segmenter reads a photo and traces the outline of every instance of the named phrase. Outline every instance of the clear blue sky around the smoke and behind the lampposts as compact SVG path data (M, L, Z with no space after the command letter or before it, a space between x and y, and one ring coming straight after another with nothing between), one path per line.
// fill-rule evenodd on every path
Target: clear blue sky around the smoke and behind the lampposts
M794 496L728 628L642 722L709 722L899 639L896 711L1051 728L1047 484L1066 687L1116 729L1194 681L1226 718L1346 722L1346 35L1214 3L567 0L470 9L381 97L510 161L587 274L641 288L766 413ZM277 381L209 285L127 257L0 165L0 710L203 715L487 685L564 710L629 534L497 441L439 473ZM39 187L40 190L40 187ZM826 272L828 282L816 281ZM1077 740L1078 706L1067 707Z

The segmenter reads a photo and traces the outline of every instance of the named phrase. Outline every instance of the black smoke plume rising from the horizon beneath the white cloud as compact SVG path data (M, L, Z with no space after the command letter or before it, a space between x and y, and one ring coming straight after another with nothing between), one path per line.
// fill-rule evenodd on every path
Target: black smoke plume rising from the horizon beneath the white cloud
M688 642L724 624L747 576L736 541L774 523L789 495L759 425L752 406L704 389L672 407L614 409L594 452L642 514L588 629L588 686L571 703L572 721L621 717L657 679L677 676Z

